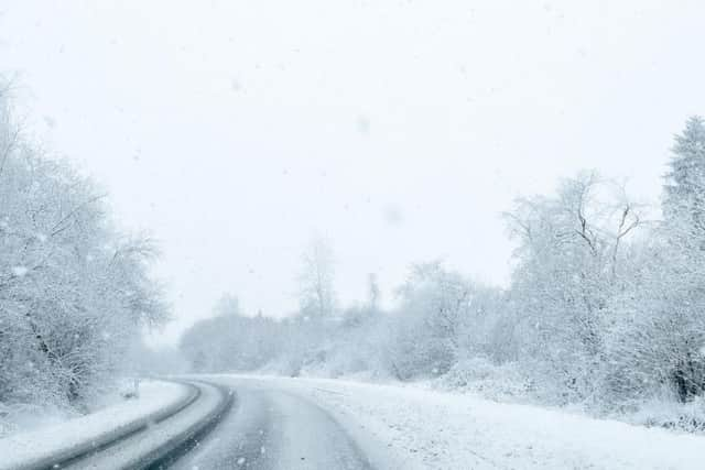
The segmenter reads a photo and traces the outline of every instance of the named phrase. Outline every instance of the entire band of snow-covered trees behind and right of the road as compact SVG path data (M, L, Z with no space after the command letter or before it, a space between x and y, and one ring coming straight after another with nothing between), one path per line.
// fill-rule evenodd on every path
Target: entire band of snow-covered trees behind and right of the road
M662 217L625 185L581 172L503 215L516 242L505 288L442 263L411 266L398 306L335 302L332 251L306 249L300 311L219 307L182 341L194 370L497 381L550 404L633 409L705 390L705 124L675 136ZM658 212L658 211L657 211Z

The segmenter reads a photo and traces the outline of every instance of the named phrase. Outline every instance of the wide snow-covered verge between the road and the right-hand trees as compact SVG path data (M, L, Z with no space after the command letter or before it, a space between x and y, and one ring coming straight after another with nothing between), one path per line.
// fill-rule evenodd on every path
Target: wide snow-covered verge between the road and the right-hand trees
M251 379L313 398L404 469L705 468L705 436L412 386Z

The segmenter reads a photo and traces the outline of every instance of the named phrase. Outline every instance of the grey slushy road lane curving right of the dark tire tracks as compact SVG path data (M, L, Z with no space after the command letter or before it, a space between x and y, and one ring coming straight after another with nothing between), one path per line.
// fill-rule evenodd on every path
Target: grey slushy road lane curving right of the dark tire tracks
M225 418L170 469L371 469L352 438L325 411L286 392L242 379L208 379L229 386Z

